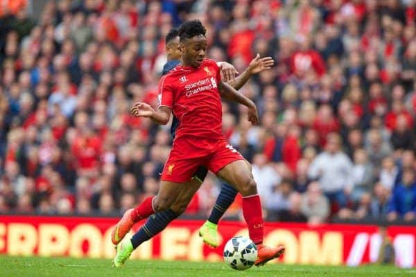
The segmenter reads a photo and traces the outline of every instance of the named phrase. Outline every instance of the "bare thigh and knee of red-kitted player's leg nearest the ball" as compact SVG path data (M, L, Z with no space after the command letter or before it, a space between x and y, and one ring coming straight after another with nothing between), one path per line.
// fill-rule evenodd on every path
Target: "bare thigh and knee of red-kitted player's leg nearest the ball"
M251 165L248 161L232 161L221 168L216 175L234 186L243 196L257 194L257 184L254 181Z

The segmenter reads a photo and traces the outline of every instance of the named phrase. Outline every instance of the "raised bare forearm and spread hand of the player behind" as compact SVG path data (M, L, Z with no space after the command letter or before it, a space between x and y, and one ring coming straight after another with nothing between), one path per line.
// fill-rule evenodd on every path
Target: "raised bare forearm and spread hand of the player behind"
M275 61L272 57L260 57L260 55L257 54L243 73L227 83L234 87L234 89L241 89L252 75L270 69L273 64L275 64Z

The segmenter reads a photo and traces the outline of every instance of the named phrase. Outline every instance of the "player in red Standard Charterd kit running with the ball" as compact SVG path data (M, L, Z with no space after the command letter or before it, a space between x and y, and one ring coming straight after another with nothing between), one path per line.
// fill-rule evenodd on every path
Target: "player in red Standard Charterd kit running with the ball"
M263 245L263 217L257 184L250 163L227 143L222 134L220 97L231 98L248 107L248 120L253 124L259 122L257 108L252 100L221 82L218 65L205 58L205 33L199 20L182 24L182 62L159 82L161 105L156 111L144 102L132 108L133 115L151 118L157 124L168 123L172 111L180 121L173 148L162 171L159 192L155 197L145 199L137 209L142 218L168 210L196 169L205 166L243 196L243 215L250 238L258 247L255 264L264 265L279 257L284 247ZM119 243L114 265L123 265L136 247L132 240Z

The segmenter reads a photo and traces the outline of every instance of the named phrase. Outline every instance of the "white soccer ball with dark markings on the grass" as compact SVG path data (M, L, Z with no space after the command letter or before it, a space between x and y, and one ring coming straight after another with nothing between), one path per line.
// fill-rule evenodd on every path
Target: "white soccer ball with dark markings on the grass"
M242 236L234 237L225 244L224 260L236 270L249 269L257 259L257 247L252 240Z

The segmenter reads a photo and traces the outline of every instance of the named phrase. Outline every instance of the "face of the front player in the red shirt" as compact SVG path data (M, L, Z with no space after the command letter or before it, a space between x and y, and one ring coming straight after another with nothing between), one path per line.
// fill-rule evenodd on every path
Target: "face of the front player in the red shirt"
M184 63L198 68L205 59L207 38L204 35L198 35L187 39L181 46Z

